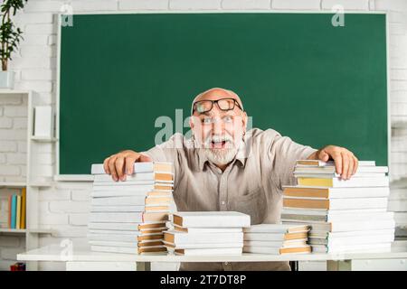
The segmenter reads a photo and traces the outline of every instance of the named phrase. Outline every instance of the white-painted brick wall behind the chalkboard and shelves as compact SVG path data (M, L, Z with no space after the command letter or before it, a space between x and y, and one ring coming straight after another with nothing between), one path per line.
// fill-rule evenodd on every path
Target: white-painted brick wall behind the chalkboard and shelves
M344 5L352 10L388 11L390 21L390 79L393 179L407 176L407 1L405 0L35 0L29 1L24 13L14 19L24 30L21 50L14 55L10 69L16 71L16 89L33 89L43 104L55 103L56 17L64 3L71 3L74 12L115 11L208 11L208 10L329 10L332 5ZM22 98L0 98L0 182L18 180L25 174L26 105ZM404 125L403 125L404 124ZM36 171L52 175L55 160L52 144L41 144L36 151ZM90 183L58 182L40 192L39 221L43 228L55 234L43 235L40 245L58 244L64 238L86 243L86 225L90 198ZM402 189L406 191L407 189ZM400 191L400 190L399 190ZM0 205L5 206L7 192L0 193ZM400 192L395 195L400 196ZM3 198L3 201L2 199ZM3 207L2 207L3 208ZM398 217L402 219L404 215ZM6 216L0 214L0 225ZM24 238L0 236L0 270L6 269L15 253L24 248ZM323 266L323 265L322 265ZM64 269L59 263L44 262L44 270ZM153 266L159 269L160 266ZM317 267L315 267L317 268Z

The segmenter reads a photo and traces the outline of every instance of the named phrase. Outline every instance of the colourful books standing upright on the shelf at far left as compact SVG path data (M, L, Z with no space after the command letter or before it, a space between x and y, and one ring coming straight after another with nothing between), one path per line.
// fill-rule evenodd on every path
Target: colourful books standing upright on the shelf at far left
M14 194L8 197L7 228L26 228L26 199L26 188L21 189L21 194Z

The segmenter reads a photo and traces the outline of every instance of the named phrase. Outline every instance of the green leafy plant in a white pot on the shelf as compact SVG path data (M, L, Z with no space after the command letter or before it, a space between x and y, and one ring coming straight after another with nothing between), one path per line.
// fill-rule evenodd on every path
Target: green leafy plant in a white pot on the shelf
M8 71L8 61L11 55L17 50L17 45L23 39L23 32L15 27L11 20L11 15L24 7L27 0L4 0L0 5L0 57L2 61L2 71L0 71L0 89L13 89L14 71Z

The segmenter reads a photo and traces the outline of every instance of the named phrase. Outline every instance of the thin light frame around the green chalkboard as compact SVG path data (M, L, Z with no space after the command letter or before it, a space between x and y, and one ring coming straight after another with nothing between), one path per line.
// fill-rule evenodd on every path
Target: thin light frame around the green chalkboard
M75 13L75 15L90 15L90 14L332 14L332 11L312 11L312 10L207 10L207 11L104 11L96 13ZM345 14L383 14L385 16L385 31L386 31L386 86L387 86L387 165L389 166L389 174L391 172L391 113L390 113L390 55L389 55L389 19L386 11L352 11L346 10ZM57 68L56 68L56 174L54 181L61 182L90 182L93 180L90 174L60 174L60 77L61 77L61 36L62 36L62 18L63 14L58 16L58 31L57 31Z

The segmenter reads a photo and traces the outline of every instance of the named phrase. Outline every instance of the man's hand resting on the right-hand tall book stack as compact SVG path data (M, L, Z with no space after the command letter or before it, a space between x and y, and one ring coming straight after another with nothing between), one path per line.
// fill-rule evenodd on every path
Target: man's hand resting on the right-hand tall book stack
M357 170L358 161L355 154L345 149L345 147L327 145L308 156L308 160L327 162L329 159L334 160L336 173L340 174L343 180L350 179Z

